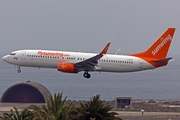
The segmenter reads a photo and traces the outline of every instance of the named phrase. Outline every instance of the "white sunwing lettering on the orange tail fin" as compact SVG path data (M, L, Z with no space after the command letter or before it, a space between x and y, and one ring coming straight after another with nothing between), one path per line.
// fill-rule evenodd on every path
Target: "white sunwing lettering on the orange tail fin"
M166 38L162 40L162 42L152 51L152 55L156 55L158 51L168 42L171 41L172 37L171 35L168 35Z

